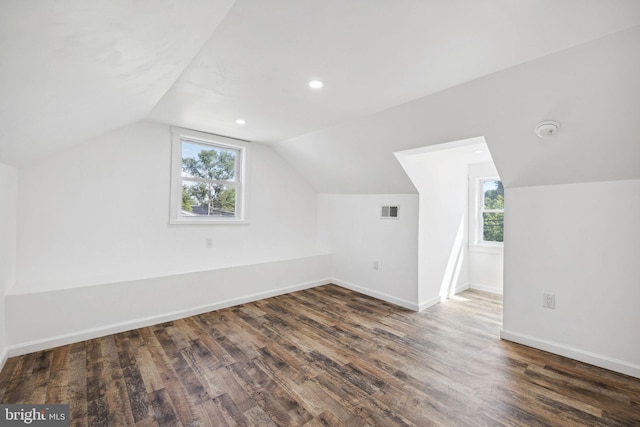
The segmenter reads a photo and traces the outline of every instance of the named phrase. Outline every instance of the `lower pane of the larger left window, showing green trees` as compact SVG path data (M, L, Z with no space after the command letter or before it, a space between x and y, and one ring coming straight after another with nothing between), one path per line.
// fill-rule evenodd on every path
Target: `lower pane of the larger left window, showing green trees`
M182 216L235 215L235 186L182 181Z

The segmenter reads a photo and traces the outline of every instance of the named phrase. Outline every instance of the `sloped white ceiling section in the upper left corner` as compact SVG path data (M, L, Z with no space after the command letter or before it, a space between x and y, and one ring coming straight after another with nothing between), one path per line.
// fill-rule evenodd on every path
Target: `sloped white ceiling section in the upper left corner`
M0 1L0 162L144 119L232 0Z

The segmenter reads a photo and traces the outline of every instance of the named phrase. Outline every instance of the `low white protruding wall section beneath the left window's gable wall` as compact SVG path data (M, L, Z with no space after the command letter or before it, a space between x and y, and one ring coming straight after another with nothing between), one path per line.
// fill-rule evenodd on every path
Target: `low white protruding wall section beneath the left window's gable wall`
M331 255L8 295L9 354L149 326L328 283ZM324 280L318 280L324 278Z

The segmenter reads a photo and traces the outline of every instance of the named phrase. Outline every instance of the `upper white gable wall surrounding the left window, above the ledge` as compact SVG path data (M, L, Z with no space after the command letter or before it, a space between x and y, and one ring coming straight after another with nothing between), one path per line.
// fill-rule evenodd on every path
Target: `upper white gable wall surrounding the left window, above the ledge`
M251 145L249 225L169 225L165 125L138 122L21 169L18 278L9 293L317 254L314 191L272 149Z

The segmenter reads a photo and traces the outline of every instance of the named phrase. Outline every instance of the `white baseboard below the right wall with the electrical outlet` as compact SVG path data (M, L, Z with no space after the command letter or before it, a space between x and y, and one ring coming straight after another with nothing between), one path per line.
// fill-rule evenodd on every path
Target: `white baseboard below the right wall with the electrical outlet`
M609 369L610 371L615 371L635 378L640 378L640 365L629 363L624 360L614 359L602 354L580 350L574 347L566 346L564 344L539 339L529 335L519 334L517 332L507 331L504 329L500 331L500 338L507 341L513 341L518 344L523 344L528 347L537 348L539 350L548 351L549 353L558 354L560 356L568 357L570 359L578 360L580 362L588 363L600 368Z

